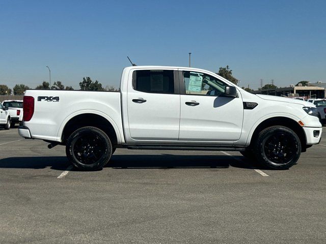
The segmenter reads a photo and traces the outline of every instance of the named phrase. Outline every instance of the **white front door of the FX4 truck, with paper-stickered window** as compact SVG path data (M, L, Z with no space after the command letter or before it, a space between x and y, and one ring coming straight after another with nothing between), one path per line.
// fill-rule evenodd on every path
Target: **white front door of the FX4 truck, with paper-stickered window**
M179 141L223 144L238 140L243 120L241 94L223 97L229 84L212 75L183 70L180 76L184 87L180 87Z

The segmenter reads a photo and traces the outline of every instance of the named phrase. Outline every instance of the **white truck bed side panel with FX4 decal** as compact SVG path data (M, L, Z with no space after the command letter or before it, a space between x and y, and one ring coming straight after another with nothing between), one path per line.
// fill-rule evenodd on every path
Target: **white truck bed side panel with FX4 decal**
M26 90L25 96L34 98L34 113L38 115L24 122L32 138L61 142L64 125L72 117L85 113L101 115L123 131L119 92Z

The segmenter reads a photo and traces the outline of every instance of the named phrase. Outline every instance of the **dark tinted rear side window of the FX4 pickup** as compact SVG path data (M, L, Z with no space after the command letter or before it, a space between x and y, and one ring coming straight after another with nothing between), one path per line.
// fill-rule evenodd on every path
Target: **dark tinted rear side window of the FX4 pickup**
M132 75L134 90L144 93L174 93L173 70L137 70Z

